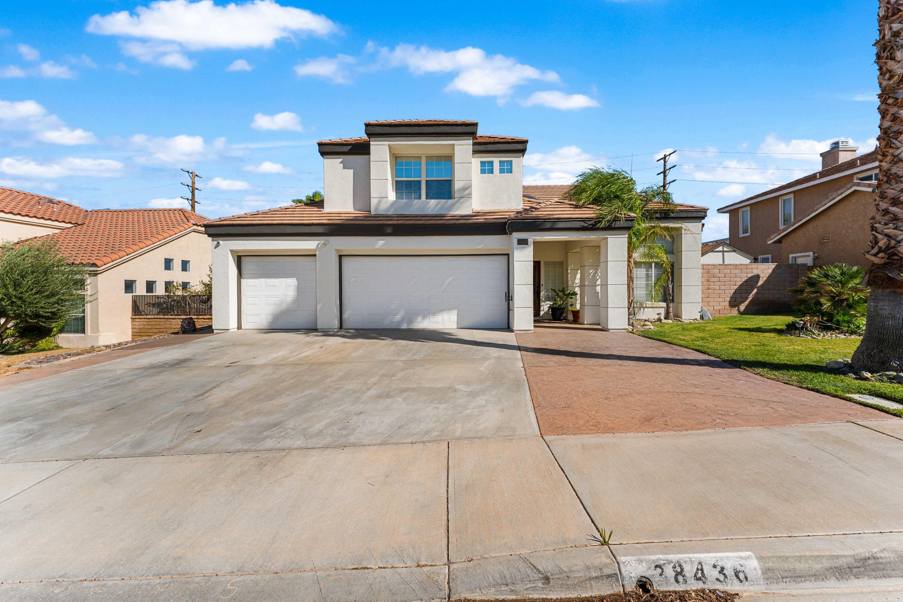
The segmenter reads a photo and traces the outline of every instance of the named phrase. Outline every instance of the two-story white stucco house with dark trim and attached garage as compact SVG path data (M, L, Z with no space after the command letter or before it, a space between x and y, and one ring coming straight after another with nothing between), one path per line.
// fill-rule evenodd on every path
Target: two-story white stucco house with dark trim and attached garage
M600 228L561 199L566 187L524 187L526 139L478 134L475 121L364 131L319 143L321 202L204 226L215 330L530 330L564 284L582 322L627 328L629 216ZM693 206L663 217L681 226L669 249L677 317L699 315L704 217Z

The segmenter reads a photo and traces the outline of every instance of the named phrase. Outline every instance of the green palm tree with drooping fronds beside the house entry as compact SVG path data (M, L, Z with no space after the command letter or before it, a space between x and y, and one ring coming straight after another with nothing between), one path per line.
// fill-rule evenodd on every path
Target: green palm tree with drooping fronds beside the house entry
M674 226L661 224L657 218L661 213L676 208L671 193L661 186L637 190L637 181L626 171L591 167L577 176L577 180L563 197L581 206L595 207L596 222L600 227L609 226L620 219L633 218L633 227L627 237L627 307L628 323L632 325L637 316L634 303L634 255L642 250L641 255L667 257L665 248L656 241L670 239ZM668 270L670 272L670 264ZM667 290L666 315L671 312L670 296L671 292Z

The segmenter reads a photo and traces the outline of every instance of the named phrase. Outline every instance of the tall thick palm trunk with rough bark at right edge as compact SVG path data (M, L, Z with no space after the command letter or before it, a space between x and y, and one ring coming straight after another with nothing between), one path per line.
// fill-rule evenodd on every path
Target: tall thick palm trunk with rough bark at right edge
M871 292L852 364L903 372L903 0L880 0L878 32L878 197L865 254Z

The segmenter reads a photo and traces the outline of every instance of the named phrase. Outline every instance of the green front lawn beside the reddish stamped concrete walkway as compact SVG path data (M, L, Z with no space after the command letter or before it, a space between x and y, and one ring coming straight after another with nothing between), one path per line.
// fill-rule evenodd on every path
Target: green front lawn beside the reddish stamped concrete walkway
M641 330L638 334L702 351L757 375L810 391L834 397L868 394L903 403L903 384L870 383L824 371L824 362L852 357L859 338L779 336L792 317L727 316L704 322L656 324L655 330ZM878 409L903 418L903 410Z

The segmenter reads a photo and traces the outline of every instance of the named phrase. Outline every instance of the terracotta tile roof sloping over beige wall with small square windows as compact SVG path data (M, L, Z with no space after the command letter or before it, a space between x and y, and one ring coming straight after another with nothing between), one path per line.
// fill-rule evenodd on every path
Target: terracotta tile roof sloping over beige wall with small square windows
M72 263L98 267L145 246L209 222L188 209L94 209L78 226L41 236L52 237Z

